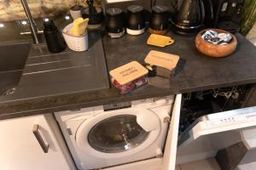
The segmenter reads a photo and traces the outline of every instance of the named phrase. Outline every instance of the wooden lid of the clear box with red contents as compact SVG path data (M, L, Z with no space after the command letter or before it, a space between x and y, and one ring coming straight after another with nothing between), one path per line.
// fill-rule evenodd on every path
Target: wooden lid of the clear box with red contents
M139 77L143 77L148 74L148 70L140 65L137 61L131 61L126 65L122 65L113 71L109 71L111 77L113 77L120 85L124 85L127 82L132 82Z

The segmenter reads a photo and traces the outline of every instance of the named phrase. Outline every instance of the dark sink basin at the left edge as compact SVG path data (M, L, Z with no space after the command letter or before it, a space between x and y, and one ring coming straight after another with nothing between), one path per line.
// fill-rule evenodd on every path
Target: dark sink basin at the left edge
M0 45L0 95L15 93L30 48L28 42Z

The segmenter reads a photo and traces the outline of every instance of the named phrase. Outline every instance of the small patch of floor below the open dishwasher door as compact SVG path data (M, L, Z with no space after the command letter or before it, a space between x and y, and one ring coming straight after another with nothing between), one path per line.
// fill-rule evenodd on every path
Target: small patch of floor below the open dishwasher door
M177 165L175 170L220 170L214 158Z

